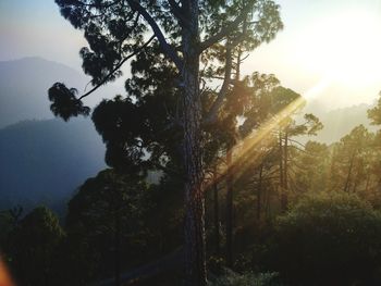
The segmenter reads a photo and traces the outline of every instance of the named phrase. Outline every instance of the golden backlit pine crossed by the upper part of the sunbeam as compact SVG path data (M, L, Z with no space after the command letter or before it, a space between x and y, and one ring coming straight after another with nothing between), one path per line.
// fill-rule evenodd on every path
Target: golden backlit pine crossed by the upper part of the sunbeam
M293 184L293 182L288 182L293 179L293 154L300 146L295 138L316 135L322 128L322 124L318 117L310 113L296 120L305 105L305 100L299 94L282 87L274 75L254 73L249 79L253 99L249 104L245 105L241 134L244 137L254 130L261 132L266 136L266 140L263 139L262 144L256 144L251 151L246 154L244 161L250 162L253 158L257 158L248 167L251 173L242 173L246 177L246 182L251 183L251 185L254 183L257 188L257 210L260 210L263 178L268 176L267 173L272 174L274 171L274 164L270 163L269 159L272 160L274 158L272 153L276 152L278 189L281 198L281 210L285 211L288 206L290 186ZM263 173L263 171L266 172ZM269 182L267 183L269 186ZM257 211L257 216L260 216L260 211Z

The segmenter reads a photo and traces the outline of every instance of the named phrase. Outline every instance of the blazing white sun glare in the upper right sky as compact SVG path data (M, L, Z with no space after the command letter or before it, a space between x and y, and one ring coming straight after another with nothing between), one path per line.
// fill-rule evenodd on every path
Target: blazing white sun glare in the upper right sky
M381 17L353 9L320 18L300 37L298 63L308 72L346 86L381 76ZM381 84L381 83L380 83Z

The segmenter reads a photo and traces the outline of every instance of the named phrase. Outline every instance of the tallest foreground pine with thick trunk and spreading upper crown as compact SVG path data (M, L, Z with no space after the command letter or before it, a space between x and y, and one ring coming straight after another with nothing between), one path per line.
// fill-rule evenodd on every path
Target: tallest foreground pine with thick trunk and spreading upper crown
M84 71L94 88L79 97L73 89L56 84L49 90L52 111L67 120L87 114L81 99L107 82L115 79L120 67L144 50L153 38L159 51L175 70L181 94L179 117L172 124L182 130L182 165L185 196L186 285L205 285L205 226L202 194L202 121L216 121L232 85L231 55L246 37L251 48L272 39L282 27L279 8L271 0L236 1L135 1L56 0L62 15L83 29L89 49L81 50ZM242 25L247 33L241 33ZM149 30L152 36L147 39ZM224 82L209 114L201 117L200 57L210 47L224 42ZM158 53L155 55L160 57ZM146 90L150 87L146 87ZM115 147L115 146L114 146ZM121 148L121 146L115 147ZM136 153L134 153L136 154Z

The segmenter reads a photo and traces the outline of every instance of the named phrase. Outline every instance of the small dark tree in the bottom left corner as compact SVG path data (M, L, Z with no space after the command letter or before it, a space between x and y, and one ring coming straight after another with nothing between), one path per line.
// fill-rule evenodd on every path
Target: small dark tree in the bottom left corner
M10 234L7 254L22 285L57 285L56 254L65 234L57 216L38 207Z

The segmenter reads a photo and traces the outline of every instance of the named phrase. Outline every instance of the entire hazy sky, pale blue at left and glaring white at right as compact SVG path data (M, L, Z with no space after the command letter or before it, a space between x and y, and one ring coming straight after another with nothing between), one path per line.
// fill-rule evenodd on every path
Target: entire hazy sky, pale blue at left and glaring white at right
M309 105L372 103L381 90L381 0L278 0L284 29L243 72L272 73ZM81 70L86 46L53 0L0 0L0 61L41 57Z

